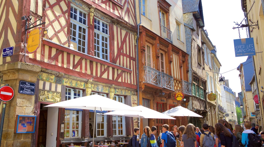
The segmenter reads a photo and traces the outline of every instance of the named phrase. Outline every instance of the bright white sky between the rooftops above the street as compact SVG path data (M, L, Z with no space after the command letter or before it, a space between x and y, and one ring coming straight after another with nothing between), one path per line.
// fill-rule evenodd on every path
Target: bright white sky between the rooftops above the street
M234 39L239 39L238 29L233 30L233 27L237 27L234 22L240 24L244 18L241 0L202 0L202 9L204 29L213 45L216 46L216 56L222 65L220 74L229 81L229 87L238 96L241 92L241 84L237 67L248 57L235 57L234 49ZM242 24L245 22L243 21ZM243 30L240 28L239 31L241 38L247 38L245 28Z

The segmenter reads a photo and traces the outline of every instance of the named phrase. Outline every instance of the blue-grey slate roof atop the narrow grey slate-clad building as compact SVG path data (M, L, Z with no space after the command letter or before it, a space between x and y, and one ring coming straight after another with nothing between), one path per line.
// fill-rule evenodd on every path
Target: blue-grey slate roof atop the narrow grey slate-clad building
M196 12L199 9L200 0L182 0L182 12Z

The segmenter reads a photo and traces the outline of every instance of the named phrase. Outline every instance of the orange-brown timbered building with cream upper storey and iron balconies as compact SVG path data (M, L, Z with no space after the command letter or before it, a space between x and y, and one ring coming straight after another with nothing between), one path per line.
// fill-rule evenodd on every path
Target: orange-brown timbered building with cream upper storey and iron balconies
M136 7L139 7L139 104L158 112L178 105L186 107L188 101L175 99L176 91L184 92L186 99L191 95L181 1L142 0ZM169 124L169 130L174 125L187 125L187 117L176 118L143 119L141 132L145 126L157 126L159 135L163 124Z

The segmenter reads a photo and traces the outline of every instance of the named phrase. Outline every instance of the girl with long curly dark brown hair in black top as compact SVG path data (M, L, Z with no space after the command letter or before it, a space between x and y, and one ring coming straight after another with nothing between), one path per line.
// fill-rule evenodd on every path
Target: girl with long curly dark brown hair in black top
M215 124L215 134L221 141L221 147L232 147L232 134L223 124Z

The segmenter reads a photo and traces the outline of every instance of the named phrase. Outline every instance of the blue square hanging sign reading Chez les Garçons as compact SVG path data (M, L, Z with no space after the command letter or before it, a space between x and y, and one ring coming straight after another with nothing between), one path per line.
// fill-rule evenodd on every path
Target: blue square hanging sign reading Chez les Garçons
M234 39L235 57L256 55L254 39Z

